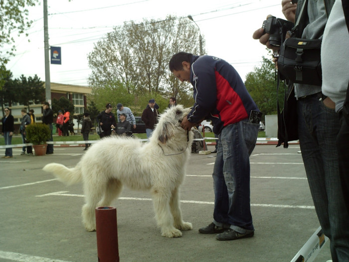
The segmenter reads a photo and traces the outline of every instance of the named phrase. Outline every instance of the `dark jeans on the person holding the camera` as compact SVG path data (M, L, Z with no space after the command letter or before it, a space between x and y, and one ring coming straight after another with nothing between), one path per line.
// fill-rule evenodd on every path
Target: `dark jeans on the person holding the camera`
M324 105L321 93L299 99L297 113L302 158L320 225L330 239L333 262L348 262L349 215L336 148L339 115Z

